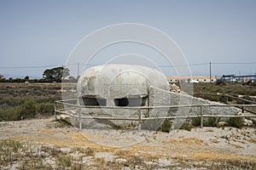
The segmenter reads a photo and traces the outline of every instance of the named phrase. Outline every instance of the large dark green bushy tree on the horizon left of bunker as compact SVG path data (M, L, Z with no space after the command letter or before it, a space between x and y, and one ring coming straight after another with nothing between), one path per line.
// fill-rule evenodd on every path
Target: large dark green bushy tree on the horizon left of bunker
M47 69L43 73L43 78L48 82L61 82L61 77L69 76L69 69L63 66Z

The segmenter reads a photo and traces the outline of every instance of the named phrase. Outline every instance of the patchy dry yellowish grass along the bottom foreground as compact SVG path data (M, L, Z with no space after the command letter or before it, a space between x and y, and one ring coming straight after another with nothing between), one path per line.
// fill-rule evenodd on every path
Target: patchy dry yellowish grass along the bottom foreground
M53 131L49 130L41 130L42 133L52 133ZM52 157L51 159L55 160L54 165L59 168L96 168L100 167L102 169L120 169L122 167L130 167L132 168L159 168L160 165L158 165L158 161L161 158L166 158L170 161L174 161L173 164L178 167L187 168L191 164L196 164L197 167L209 167L207 163L199 163L199 162L218 162L218 164L212 163L211 166L217 167L239 167L239 166L249 166L252 167L256 163L256 158L253 158L253 156L241 156L241 155L234 155L231 152L218 152L218 151L212 151L212 150L206 150L202 146L205 145L204 141L201 139L196 138L185 138L180 137L179 139L169 139L166 141L163 141L163 143L168 145L168 149L163 146L159 148L160 152L157 152L155 150L158 150L157 148L154 148L153 146L147 146L147 145L137 145L133 146L129 149L116 149L111 147L102 147L101 145L94 145L93 147L88 147L87 144L89 144L89 141L86 141L86 138L84 135L81 135L80 133L67 133L68 136L70 136L73 141L70 141L66 144L61 144L61 148L71 147L70 151L63 152L60 149L60 144L56 144L58 142L49 143L49 144L55 144L56 148L48 147L47 145L42 145L38 151L38 153L44 151L45 153L49 152L48 157ZM11 143L10 143L11 144ZM21 144L21 145L20 145ZM14 145L13 150L17 150L17 148L23 147L22 144L30 145L18 142L18 144L11 144ZM170 145L171 144L171 145ZM17 145L17 146L15 146ZM33 144L32 146L34 147ZM170 147L173 148L174 153L171 152ZM202 148L201 148L202 147ZM234 145L234 147L236 147ZM2 147L4 148L4 147ZM191 150L192 148L192 150ZM201 148L201 150L200 150ZM27 150L27 149L26 149ZM168 151L169 150L169 151ZM178 151L177 151L178 150ZM103 157L95 157L97 152L108 152L110 154L113 154L114 160L117 160L119 158L124 159L125 161L115 162L115 161L106 161ZM83 162L83 159L86 157L90 157L90 164L86 164ZM44 157L43 157L44 158ZM42 159L43 159L42 158ZM16 158L18 159L18 158ZM18 159L20 160L20 159ZM148 164L147 162L151 162ZM15 161L16 162L16 161ZM15 163L14 161L10 161L9 163ZM37 160L38 164L35 164L35 161L20 161L20 169L26 169L26 168L45 168L45 169L51 169L53 166L52 163L46 163L46 161L43 160ZM6 166L6 165L3 165ZM210 166L210 167L211 167ZM165 166L164 166L165 167ZM172 165L167 166L168 168L172 168Z

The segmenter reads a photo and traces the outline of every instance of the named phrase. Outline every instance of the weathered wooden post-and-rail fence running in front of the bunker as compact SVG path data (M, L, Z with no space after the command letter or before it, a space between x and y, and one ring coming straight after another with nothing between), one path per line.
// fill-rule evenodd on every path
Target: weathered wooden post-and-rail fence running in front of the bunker
M77 105L75 104L77 99L64 99L55 101L55 119L57 120L57 114L65 114L67 116L72 116L79 118L79 130L82 129L83 119L100 119L100 120L125 120L125 121L137 121L138 130L141 130L141 125L143 121L156 120L156 119L186 119L186 118L201 118L201 127L203 127L204 117L256 117L256 115L204 115L203 110L205 107L239 107L244 109L245 107L256 107L256 105L162 105L162 106L135 106L135 107L119 107L119 106L99 106L99 105ZM59 109L59 105L65 105L64 108ZM142 117L142 110L148 109L164 109L164 108L181 108L181 107L199 107L200 114L195 116L158 116L158 117ZM137 117L110 117L110 116L82 116L82 109L129 109L137 110ZM76 115L68 113L67 111L75 110Z

